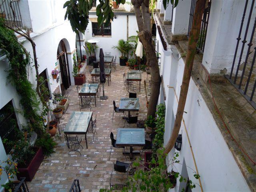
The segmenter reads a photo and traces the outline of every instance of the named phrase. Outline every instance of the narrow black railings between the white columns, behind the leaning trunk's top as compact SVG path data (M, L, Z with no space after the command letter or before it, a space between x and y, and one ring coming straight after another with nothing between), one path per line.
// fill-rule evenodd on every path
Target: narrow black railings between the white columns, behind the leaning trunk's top
M191 6L190 6L190 14L189 14L188 36L190 34L191 27L192 27L195 6L196 6L196 0L192 0ZM204 52L204 46L205 46L205 40L206 40L206 34L207 34L207 28L208 28L208 22L209 22L209 16L210 16L210 9L211 9L211 0L207 0L204 8L204 14L202 16L199 39L197 42L197 48L202 52Z

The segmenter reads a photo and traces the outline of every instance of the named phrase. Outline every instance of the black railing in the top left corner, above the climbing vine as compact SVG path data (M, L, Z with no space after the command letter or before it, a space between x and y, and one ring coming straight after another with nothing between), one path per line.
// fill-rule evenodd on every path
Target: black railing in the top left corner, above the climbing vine
M0 0L0 18L12 28L23 28L18 0Z

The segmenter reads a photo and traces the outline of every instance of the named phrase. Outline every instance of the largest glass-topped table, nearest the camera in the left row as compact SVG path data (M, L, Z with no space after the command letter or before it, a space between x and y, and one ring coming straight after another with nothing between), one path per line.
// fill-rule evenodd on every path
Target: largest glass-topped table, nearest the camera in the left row
M92 123L92 112L74 111L72 112L71 117L68 120L68 124L66 125L66 128L64 130L64 134L71 134L71 135L84 134L86 148L88 149L86 134L88 132L90 123Z

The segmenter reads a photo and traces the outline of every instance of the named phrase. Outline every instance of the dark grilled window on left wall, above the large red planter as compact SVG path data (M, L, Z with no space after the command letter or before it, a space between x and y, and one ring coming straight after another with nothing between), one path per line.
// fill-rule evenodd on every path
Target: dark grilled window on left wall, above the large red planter
M12 150L12 145L7 141L16 141L15 129L18 128L18 123L12 101L8 102L0 109L0 137L4 144L6 154Z

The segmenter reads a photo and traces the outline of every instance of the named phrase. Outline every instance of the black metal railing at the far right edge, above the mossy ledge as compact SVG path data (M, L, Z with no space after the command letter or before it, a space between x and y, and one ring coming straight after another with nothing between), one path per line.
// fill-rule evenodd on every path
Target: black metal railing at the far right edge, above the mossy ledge
M244 98L246 98L246 100L248 100L254 109L256 109L256 103L253 100L256 88L256 78L254 75L252 75L256 70L254 67L256 58L256 40L254 36L256 17L254 20L252 18L254 1L255 0L250 1L251 4L248 4L248 0L245 1L240 30L238 33L238 38L236 38L237 43L232 68L230 75L226 75L226 78L228 78L232 85L234 85L234 87L237 88L237 90L244 96ZM244 25L245 17L247 19L246 25ZM242 32L244 33L243 35ZM241 43L240 40L242 40ZM238 50L240 50L240 55L238 55ZM237 62L238 57L239 59Z

